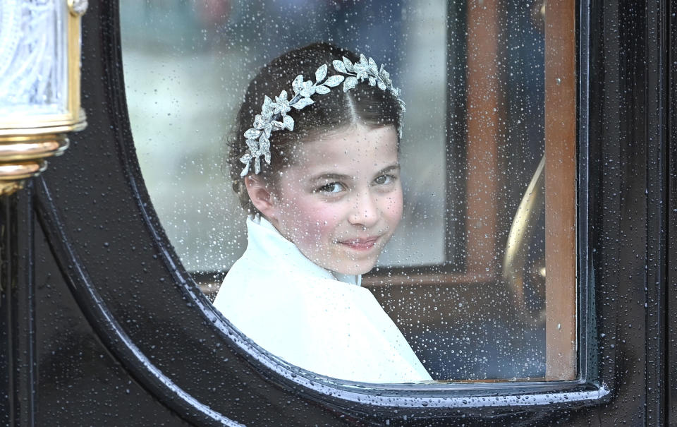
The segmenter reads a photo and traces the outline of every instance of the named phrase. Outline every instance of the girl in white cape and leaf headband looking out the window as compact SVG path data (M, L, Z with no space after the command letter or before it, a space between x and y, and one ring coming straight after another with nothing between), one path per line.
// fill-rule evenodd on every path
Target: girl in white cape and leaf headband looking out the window
M402 215L403 102L383 67L330 44L252 80L228 163L248 246L214 306L261 347L343 380L431 380L360 287Z

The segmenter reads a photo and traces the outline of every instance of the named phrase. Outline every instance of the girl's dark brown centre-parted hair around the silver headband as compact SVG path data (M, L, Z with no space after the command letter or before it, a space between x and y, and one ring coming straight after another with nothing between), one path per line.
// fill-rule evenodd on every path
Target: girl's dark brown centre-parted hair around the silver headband
M354 52L332 44L310 44L273 59L250 82L244 101L240 105L234 134L228 143L230 150L227 159L233 191L238 194L240 205L250 214L259 212L249 198L243 177L240 177L240 172L245 166L240 162L240 157L248 149L243 134L252 128L255 116L261 114L264 97L267 95L274 99L282 90L291 92L291 82L299 74L304 76L304 80L315 80L315 70L322 64L329 67L329 76L336 74L332 61L340 60L343 56L353 63L360 59ZM260 173L262 178L271 179L274 176L272 172L291 164L293 159L287 156L289 150L283 150L284 145L288 143L312 140L322 133L338 131L352 124L373 128L392 125L396 129L401 126L401 107L397 98L389 90L381 90L365 82L358 83L348 92L343 92L343 85L338 85L331 88L327 95L314 95L312 99L315 101L314 104L301 110L292 109L288 113L295 122L293 131L282 130L272 133L271 164L262 162Z

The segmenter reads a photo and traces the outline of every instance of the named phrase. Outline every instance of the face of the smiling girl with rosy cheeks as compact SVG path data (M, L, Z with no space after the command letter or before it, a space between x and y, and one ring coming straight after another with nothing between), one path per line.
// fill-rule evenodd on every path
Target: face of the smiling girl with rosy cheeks
M352 126L291 148L268 219L320 267L371 270L402 217L394 126Z

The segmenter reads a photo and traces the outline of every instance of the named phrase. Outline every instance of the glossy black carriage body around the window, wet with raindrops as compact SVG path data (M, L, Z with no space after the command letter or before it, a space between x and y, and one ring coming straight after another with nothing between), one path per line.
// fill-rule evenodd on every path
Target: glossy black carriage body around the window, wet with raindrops
M580 379L351 387L295 375L214 314L145 191L116 1L83 19L83 106L44 176L1 200L11 426L677 424L677 18L578 6Z

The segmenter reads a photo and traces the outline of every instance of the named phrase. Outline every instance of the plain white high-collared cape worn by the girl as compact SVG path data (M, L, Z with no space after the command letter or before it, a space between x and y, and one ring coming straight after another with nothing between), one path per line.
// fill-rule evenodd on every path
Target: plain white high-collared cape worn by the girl
M305 258L266 219L248 219L248 246L214 306L281 359L342 380L432 380L360 276Z

